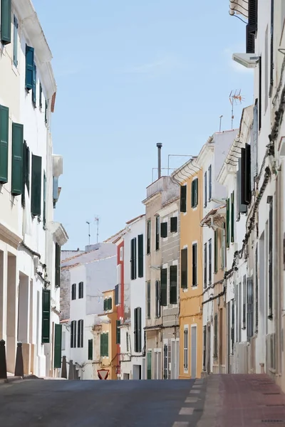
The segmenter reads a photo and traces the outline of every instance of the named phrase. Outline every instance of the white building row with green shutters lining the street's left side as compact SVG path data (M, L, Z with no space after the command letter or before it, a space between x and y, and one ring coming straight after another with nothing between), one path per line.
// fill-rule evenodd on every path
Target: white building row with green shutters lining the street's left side
M52 56L30 0L1 1L0 20L0 338L9 372L21 341L24 374L56 376L68 236L53 221L63 162L51 140Z

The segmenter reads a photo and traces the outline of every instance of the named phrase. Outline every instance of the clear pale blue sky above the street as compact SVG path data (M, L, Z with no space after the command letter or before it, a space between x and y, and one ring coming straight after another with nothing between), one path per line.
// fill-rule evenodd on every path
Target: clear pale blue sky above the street
M253 74L232 61L245 51L245 24L228 1L33 0L53 53L58 85L53 147L63 155L56 221L65 249L113 235L142 214L145 188L168 154L198 154L231 128L229 93L252 104ZM82 6L82 7L81 7ZM235 107L234 127L242 107ZM185 158L170 159L178 167Z

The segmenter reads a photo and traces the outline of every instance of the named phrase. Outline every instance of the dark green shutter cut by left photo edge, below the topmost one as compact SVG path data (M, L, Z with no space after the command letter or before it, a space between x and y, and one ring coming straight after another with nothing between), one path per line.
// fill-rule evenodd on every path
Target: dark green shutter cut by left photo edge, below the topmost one
M0 105L0 183L8 182L9 108Z

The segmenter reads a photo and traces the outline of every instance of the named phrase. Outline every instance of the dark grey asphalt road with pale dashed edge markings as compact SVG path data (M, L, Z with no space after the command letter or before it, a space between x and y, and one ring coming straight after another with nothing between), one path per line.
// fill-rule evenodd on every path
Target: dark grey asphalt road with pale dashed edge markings
M202 380L53 381L0 384L2 427L195 427Z

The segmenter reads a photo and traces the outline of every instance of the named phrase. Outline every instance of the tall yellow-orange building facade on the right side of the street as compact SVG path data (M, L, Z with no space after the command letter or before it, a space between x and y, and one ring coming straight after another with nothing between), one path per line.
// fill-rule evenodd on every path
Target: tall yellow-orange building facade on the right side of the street
M202 374L202 176L195 159L172 174L180 184L180 379Z

